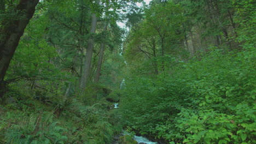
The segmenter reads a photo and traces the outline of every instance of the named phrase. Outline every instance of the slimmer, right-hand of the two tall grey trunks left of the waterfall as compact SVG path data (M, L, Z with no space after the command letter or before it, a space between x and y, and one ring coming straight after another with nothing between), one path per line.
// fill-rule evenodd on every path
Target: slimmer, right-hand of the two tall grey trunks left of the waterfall
M106 5L106 12L108 11L108 4ZM107 14L106 14L107 15ZM107 16L106 16L106 21L104 23L104 29L103 29L103 33L107 32ZM105 35L104 35L105 36ZM106 38L104 38L105 40ZM94 82L97 83L98 80L100 80L100 75L101 75L101 65L102 65L102 60L103 60L103 55L104 55L104 49L105 49L105 41L103 41L101 43L101 49L100 49L100 56L98 58L98 64L97 64L97 70L96 70L96 75L95 75L95 79Z

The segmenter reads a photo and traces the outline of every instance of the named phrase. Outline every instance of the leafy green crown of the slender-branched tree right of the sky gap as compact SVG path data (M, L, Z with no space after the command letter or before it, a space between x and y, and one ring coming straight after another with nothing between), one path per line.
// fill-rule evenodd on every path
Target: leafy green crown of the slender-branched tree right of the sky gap
M167 55L184 55L183 8L172 1L155 3L145 9L144 19L126 39L125 58L140 73L158 73L167 65ZM167 60L167 61L166 61ZM161 69L160 69L161 68Z

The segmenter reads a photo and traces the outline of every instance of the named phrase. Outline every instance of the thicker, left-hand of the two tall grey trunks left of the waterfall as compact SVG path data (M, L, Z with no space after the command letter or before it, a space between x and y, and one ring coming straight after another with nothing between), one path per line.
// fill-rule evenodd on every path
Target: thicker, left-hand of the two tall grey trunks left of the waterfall
M97 4L99 4L100 1L97 0ZM96 32L96 24L97 24L97 17L95 13L91 14L91 30L90 34L95 34ZM90 77L90 72L91 72L91 59L92 59L92 53L94 49L94 37L89 38L88 40L88 45L87 45L87 50L85 54L85 64L83 67L83 73L81 77L81 82L80 82L80 88L81 91L84 91L86 85L88 84L89 77Z

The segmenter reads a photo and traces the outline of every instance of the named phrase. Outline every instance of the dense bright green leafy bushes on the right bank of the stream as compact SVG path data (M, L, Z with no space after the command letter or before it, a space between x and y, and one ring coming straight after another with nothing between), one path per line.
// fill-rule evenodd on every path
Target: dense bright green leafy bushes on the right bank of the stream
M127 79L125 125L176 143L255 143L255 50L222 53Z

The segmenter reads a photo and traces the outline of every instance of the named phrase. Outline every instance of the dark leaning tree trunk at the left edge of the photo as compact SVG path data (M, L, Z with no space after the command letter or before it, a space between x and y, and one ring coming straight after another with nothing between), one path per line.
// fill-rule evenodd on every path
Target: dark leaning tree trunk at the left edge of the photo
M0 30L0 38L2 38L0 41L0 91L11 58L13 58L20 37L23 35L28 22L34 15L38 2L39 0L21 0L15 8L21 19L9 19L9 22L4 23L4 28Z

